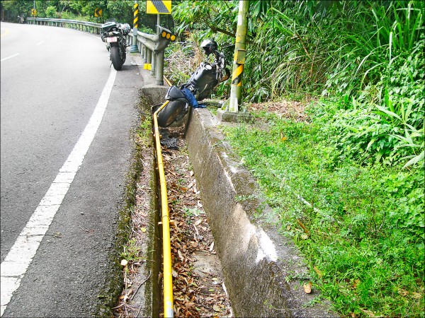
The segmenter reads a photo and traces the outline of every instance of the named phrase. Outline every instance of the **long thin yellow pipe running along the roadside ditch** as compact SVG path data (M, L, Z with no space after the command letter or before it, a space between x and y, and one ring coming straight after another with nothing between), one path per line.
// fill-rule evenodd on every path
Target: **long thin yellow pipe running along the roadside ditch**
M170 218L168 208L168 198L166 195L166 180L164 175L164 163L162 161L161 143L159 141L159 128L158 128L158 113L166 107L169 100L159 107L154 112L154 134L155 144L157 147L157 162L159 182L161 184L161 207L162 207L162 254L164 262L164 317L173 317L173 276L171 273L171 242L170 242Z

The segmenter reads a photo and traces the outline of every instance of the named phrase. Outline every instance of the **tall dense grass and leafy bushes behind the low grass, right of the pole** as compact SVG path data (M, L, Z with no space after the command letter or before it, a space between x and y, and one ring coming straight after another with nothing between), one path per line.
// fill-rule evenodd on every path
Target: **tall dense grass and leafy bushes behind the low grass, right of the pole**
M268 8L249 47L247 98L321 93L334 100L323 134L341 159L423 164L424 2L324 2Z

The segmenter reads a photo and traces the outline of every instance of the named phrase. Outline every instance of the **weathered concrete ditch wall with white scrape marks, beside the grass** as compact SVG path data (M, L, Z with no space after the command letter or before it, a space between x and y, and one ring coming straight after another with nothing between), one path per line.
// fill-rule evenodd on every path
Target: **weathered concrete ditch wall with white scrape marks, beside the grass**
M186 139L235 316L337 317L329 304L305 307L319 295L302 288L307 267L217 124L208 110L194 110Z

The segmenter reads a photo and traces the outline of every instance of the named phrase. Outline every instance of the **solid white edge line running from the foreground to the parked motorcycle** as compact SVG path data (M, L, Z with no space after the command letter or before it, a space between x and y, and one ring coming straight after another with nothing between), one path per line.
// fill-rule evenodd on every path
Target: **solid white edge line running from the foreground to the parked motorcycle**
M108 81L103 88L101 97L91 115L89 123L64 165L60 168L59 173L50 185L45 196L40 201L40 204L38 204L33 216L28 220L26 227L23 228L4 261L1 262L0 316L3 316L8 303L11 301L13 293L18 289L19 285L21 285L21 279L25 275L28 266L30 266L31 261L33 261L33 257L40 246L42 238L52 223L57 210L60 208L62 200L67 194L69 186L72 184L79 167L81 167L83 163L84 157L91 145L91 141L93 141L98 126L101 124L106 105L108 105L116 73L117 71L111 68Z

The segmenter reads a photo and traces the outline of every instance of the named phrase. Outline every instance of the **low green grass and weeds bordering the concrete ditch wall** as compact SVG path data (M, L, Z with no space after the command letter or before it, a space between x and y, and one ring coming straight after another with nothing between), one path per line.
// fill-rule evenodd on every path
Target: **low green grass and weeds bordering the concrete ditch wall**
M317 124L256 117L223 129L322 296L346 317L424 317L423 168L336 164Z

